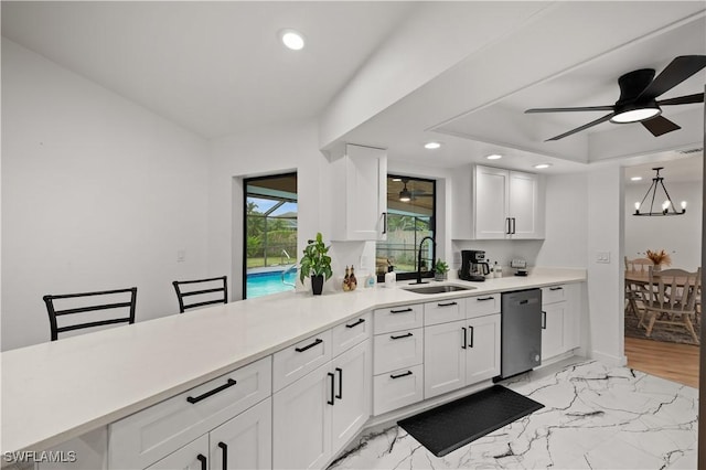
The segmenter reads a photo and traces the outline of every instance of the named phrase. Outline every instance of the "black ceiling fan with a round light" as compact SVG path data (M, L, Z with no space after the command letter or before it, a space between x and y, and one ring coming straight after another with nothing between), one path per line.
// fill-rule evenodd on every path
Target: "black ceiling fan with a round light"
M606 122L607 120L616 124L641 122L654 137L659 137L663 133L681 129L680 126L661 116L662 109L660 106L704 103L704 94L696 93L694 95L662 100L656 100L655 98L674 88L704 67L706 67L706 55L681 55L674 58L656 77L654 77L654 68L641 68L622 75L618 78L620 98L614 105L575 108L532 108L525 113L610 111L603 117L581 127L547 139L545 140L546 142L563 139L589 127Z

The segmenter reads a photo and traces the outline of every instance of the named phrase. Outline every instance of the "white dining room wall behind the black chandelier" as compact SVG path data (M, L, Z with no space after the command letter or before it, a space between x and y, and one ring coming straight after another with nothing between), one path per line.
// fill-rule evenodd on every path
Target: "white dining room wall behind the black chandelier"
M682 201L687 202L686 214L668 217L637 217L634 203L642 201L650 186L650 181L625 186L625 256L628 258L644 257L645 250L666 250L672 257L672 267L695 270L702 259L702 182L674 183L668 180L664 184L674 204L680 207ZM657 191L657 197L663 193ZM655 210L660 210L664 197L655 201ZM649 211L650 201L645 202Z

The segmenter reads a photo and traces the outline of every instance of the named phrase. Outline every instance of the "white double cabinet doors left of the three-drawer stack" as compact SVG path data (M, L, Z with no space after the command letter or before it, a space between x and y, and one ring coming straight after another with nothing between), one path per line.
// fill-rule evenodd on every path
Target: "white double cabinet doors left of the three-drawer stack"
M371 412L371 341L274 395L274 468L322 468Z

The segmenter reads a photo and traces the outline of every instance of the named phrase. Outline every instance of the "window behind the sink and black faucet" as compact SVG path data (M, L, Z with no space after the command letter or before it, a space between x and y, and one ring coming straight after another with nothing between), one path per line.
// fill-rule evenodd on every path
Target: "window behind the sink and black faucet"
M397 279L417 275L419 243L436 231L436 181L387 175L387 241L377 242L375 265L378 280L384 280L388 266ZM432 277L436 250L425 242L421 252L421 276Z

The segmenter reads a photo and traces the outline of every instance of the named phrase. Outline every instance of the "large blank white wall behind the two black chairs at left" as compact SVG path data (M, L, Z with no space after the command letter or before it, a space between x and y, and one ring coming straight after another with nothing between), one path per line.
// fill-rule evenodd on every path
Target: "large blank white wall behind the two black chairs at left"
M138 287L138 321L205 274L205 140L2 40L2 350L50 338L42 296ZM176 252L185 261L176 263Z

